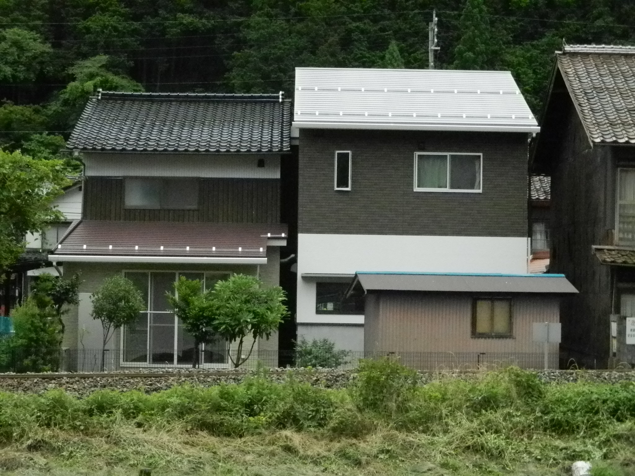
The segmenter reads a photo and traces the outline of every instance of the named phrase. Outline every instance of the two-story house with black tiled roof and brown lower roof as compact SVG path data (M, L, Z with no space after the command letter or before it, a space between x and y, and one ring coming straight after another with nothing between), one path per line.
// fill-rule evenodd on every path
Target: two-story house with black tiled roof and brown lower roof
M283 93L100 91L90 98L68 141L84 163L81 220L49 256L64 264L64 275L83 279L64 346L101 347L90 295L109 275L137 284L146 303L112 341L112 366L192 364L194 341L166 301L179 276L210 288L240 272L277 285L288 235L280 164L290 124ZM276 335L257 344L257 354L267 350L275 365ZM219 341L201 352L203 365L222 366L231 349Z

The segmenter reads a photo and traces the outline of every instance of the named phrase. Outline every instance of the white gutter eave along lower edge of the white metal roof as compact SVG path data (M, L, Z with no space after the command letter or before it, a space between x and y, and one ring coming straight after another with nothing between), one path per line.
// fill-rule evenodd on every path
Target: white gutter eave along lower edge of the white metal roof
M391 131L473 131L538 133L539 126L512 126L505 124L395 124L378 122L293 122L298 129L370 129Z

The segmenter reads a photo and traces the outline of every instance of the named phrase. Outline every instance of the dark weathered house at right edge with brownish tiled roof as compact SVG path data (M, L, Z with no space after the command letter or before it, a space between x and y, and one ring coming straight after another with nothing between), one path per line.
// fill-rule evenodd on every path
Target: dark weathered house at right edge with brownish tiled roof
M634 124L635 47L556 52L532 169L552 180L550 270L580 290L562 349L587 367L635 365Z

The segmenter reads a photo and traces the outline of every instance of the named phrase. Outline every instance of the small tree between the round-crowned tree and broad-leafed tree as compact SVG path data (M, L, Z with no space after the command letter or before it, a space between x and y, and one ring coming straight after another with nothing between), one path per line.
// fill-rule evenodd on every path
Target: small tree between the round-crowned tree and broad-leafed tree
M174 284L175 294L168 294L168 302L174 314L181 320L185 331L194 338L194 359L192 367L199 365L199 348L210 342L214 336L213 321L218 304L211 291L203 291L203 283L197 279L179 277Z

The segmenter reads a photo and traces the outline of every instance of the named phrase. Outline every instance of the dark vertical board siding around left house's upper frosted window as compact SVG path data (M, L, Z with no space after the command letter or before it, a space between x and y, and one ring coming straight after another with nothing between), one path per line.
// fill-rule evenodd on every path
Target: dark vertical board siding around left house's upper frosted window
M203 178L199 209L124 209L124 180L88 177L84 183L86 220L211 221L215 223L279 223L280 180Z

